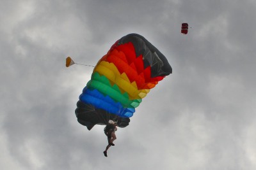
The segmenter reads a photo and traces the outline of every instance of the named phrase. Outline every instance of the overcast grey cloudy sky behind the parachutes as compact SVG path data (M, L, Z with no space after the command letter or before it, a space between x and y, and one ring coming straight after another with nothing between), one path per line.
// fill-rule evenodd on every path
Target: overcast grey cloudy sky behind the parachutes
M256 1L0 1L1 169L256 169ZM180 25L188 22L187 35ZM173 74L104 157L74 110L92 67L138 33Z

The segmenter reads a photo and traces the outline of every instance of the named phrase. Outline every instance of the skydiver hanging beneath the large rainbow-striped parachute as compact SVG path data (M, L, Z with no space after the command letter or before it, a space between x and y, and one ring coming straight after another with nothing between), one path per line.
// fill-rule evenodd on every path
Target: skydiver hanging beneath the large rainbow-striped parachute
M115 141L116 139L116 134L115 134L115 131L117 131L116 126L118 126L116 122L114 122L113 120L109 120L108 125L106 125L106 127L104 128L104 132L106 136L108 136L108 146L106 147L106 150L103 152L105 157L108 157L107 151L109 147L115 146L113 141Z

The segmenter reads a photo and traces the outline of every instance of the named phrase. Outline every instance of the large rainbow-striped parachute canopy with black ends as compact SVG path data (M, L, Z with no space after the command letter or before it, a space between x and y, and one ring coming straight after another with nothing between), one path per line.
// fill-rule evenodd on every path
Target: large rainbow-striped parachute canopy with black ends
M126 127L143 97L170 73L166 57L143 36L120 38L94 67L77 101L77 121L89 131L109 120Z

